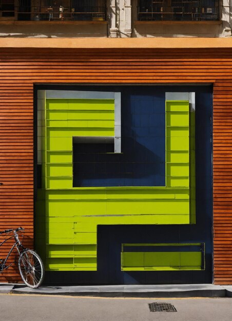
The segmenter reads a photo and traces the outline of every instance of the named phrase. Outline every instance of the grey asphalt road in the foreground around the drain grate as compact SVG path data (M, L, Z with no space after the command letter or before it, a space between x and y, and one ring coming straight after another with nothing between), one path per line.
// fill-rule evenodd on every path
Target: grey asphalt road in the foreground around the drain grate
M170 303L177 312L150 312L148 303ZM232 321L232 298L92 298L0 295L0 320Z

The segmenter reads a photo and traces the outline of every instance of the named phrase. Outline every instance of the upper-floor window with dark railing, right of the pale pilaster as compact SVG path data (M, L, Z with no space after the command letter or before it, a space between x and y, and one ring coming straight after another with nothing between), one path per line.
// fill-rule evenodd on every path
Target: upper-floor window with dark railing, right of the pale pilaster
M139 0L140 21L214 21L219 0Z

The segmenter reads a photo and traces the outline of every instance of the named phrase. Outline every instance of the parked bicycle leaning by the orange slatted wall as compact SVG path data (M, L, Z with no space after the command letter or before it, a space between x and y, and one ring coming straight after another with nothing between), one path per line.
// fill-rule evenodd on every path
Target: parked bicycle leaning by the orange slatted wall
M1 234L7 234L10 232L13 232L13 235L11 235L8 238L5 238L5 240L0 243L0 247L7 242L9 239L14 238L15 243L11 247L10 251L8 252L5 259L0 259L0 273L2 273L4 270L8 269L13 263L10 263L10 265L6 265L7 260L13 251L13 249L16 247L18 251L18 269L20 270L20 275L23 279L23 282L30 288L36 289L38 288L44 279L44 265L42 262L42 259L38 254L30 249L24 248L22 245L20 239L18 238L18 231L24 231L24 228L18 227L16 229L8 229L3 232L0 232ZM6 236L7 237L7 236Z

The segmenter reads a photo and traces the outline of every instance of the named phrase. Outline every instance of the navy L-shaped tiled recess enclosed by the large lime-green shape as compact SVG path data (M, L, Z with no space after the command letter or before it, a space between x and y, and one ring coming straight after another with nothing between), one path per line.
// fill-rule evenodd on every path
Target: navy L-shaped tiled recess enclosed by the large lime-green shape
M73 187L165 185L165 100L154 87L120 91L122 153L111 144L74 144Z

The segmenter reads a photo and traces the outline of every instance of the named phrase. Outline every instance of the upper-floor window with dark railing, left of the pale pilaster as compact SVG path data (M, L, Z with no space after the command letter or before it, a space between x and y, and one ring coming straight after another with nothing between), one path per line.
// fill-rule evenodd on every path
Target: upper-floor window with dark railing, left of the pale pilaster
M0 18L21 21L104 21L106 0L0 0Z

